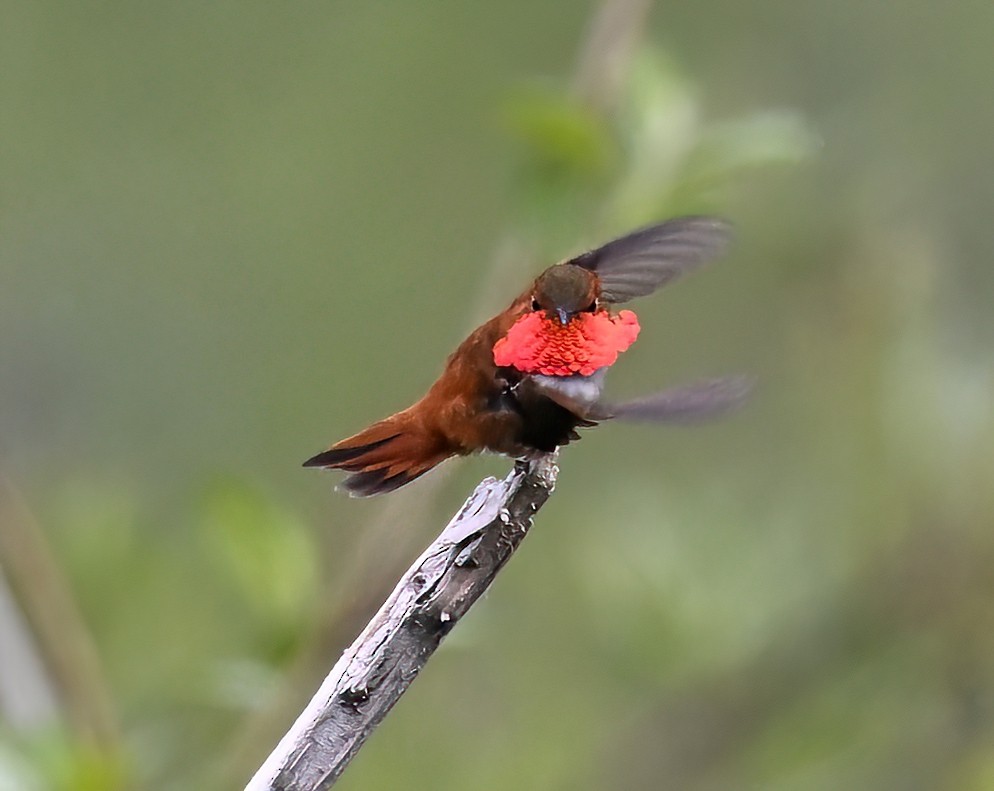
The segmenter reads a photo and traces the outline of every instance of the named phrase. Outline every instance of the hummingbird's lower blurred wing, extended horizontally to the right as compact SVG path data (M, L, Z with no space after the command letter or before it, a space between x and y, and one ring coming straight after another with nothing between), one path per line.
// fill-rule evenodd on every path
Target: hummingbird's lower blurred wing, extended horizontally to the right
M704 379L681 387L623 401L618 404L591 402L577 394L576 388L556 379L573 377L532 377L532 386L584 421L646 420L662 423L694 423L732 412L742 406L753 388L749 376Z

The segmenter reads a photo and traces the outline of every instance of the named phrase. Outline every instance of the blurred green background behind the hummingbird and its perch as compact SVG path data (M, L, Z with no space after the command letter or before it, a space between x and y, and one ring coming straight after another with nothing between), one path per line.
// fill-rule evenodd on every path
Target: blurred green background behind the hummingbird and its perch
M753 402L570 446L339 787L994 789L994 5L597 9L0 0L0 789L241 787L509 469L300 463L699 211L611 386Z

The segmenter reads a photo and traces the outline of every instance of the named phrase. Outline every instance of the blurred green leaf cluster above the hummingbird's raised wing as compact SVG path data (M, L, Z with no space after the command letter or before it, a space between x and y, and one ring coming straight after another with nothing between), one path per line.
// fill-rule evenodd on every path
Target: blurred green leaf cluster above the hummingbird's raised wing
M600 238L713 211L748 171L797 164L819 147L797 112L707 120L700 88L658 50L640 54L625 87L610 117L549 88L509 103L509 128L522 146L519 224L539 246L575 245L578 216L589 216Z

